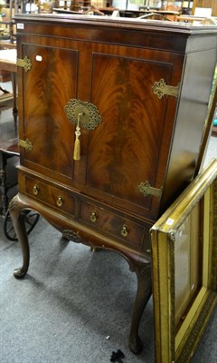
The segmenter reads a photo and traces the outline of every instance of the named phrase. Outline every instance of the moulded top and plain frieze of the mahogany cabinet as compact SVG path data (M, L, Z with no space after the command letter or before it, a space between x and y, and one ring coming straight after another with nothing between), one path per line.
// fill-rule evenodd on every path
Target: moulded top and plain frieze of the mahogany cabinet
M93 15L15 15L20 36L46 36L82 42L137 46L188 54L217 48L216 25L189 25L138 18Z

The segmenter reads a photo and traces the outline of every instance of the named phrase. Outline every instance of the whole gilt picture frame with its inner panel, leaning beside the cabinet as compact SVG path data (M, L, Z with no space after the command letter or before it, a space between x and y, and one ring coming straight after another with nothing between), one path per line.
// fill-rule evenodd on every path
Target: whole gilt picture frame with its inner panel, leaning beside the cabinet
M187 363L217 304L217 161L151 229L156 363Z

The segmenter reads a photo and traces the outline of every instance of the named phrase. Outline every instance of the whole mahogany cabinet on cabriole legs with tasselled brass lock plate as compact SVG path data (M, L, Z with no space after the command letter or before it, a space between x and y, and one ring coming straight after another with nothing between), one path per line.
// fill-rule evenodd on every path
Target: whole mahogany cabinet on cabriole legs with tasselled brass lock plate
M117 251L137 273L129 347L152 291L149 230L193 180L208 137L214 26L85 15L16 15L19 192L62 235Z

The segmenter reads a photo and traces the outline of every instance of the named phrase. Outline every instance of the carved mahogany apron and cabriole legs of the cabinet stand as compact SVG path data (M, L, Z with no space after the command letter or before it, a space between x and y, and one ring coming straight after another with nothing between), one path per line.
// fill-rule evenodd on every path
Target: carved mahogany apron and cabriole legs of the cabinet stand
M30 249L24 223L24 211L26 210L39 212L45 220L49 221L63 235L67 231L67 238L75 243L87 244L93 250L98 248L114 250L127 260L129 269L137 274L137 295L134 303L128 345L133 353L138 354L143 347L142 341L138 336L139 322L146 308L146 303L152 294L150 260L141 253L131 250L115 240L101 236L98 232L91 231L87 227L80 225L77 221L73 221L58 213L58 211L53 211L47 206L43 206L42 203L18 193L9 204L14 231L21 244L23 254L23 266L14 270L14 277L16 279L24 278L29 268Z

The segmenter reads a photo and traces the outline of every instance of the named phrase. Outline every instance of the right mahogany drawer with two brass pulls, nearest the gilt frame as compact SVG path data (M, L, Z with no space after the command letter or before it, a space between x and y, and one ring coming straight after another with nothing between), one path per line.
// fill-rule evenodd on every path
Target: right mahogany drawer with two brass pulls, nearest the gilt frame
M115 239L150 250L149 226L130 221L86 201L81 201L80 220Z

